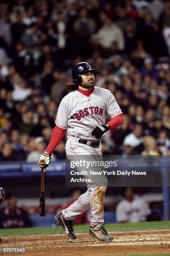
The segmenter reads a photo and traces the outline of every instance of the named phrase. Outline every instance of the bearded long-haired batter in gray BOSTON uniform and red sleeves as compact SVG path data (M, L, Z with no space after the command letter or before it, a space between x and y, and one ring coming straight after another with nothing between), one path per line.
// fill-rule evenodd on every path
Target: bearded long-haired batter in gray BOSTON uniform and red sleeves
M122 111L115 97L109 90L95 87L95 69L87 62L81 62L72 69L74 83L67 84L70 91L60 102L52 130L50 142L40 156L37 165L47 167L51 154L68 132L65 150L69 161L80 156L101 156L101 139L110 128L124 122ZM106 117L110 121L106 122ZM78 169L77 169L78 170ZM95 180L95 177L91 177ZM77 215L90 209L90 235L101 241L113 239L103 226L103 200L107 187L107 179L103 177L103 185L87 183L87 192L81 195L72 205L55 216L71 239L76 239L73 220Z

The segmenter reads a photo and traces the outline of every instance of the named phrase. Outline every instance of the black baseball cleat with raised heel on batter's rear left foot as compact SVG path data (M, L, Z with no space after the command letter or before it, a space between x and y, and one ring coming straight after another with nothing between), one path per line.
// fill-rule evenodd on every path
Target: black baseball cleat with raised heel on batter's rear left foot
M67 236L69 236L71 239L76 239L74 230L73 230L73 220L67 220L62 216L62 213L60 212L55 216L56 222L62 226Z

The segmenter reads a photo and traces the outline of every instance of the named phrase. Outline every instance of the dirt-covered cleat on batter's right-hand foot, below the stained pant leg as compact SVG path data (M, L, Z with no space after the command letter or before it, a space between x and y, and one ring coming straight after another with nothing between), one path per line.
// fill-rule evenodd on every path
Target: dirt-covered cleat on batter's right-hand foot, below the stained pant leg
M100 223L95 227L90 227L90 236L97 238L100 241L111 241L113 237L107 233L107 230L103 227L104 224Z

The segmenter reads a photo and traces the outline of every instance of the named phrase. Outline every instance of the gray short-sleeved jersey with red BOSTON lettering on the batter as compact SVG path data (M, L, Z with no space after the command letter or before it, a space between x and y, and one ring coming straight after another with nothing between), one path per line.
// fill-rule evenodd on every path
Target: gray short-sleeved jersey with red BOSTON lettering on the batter
M91 135L93 129L105 124L107 116L111 119L121 113L112 93L95 86L89 97L77 90L67 94L60 102L55 123L62 129L68 128L68 138L97 141Z

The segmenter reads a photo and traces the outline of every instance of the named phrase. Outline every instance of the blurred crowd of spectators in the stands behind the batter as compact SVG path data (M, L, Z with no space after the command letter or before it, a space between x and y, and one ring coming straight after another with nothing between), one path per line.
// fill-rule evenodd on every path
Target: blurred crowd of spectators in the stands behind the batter
M169 54L169 1L2 0L0 161L37 161L85 60L125 118L103 154L170 154ZM52 159L64 158L62 141Z

